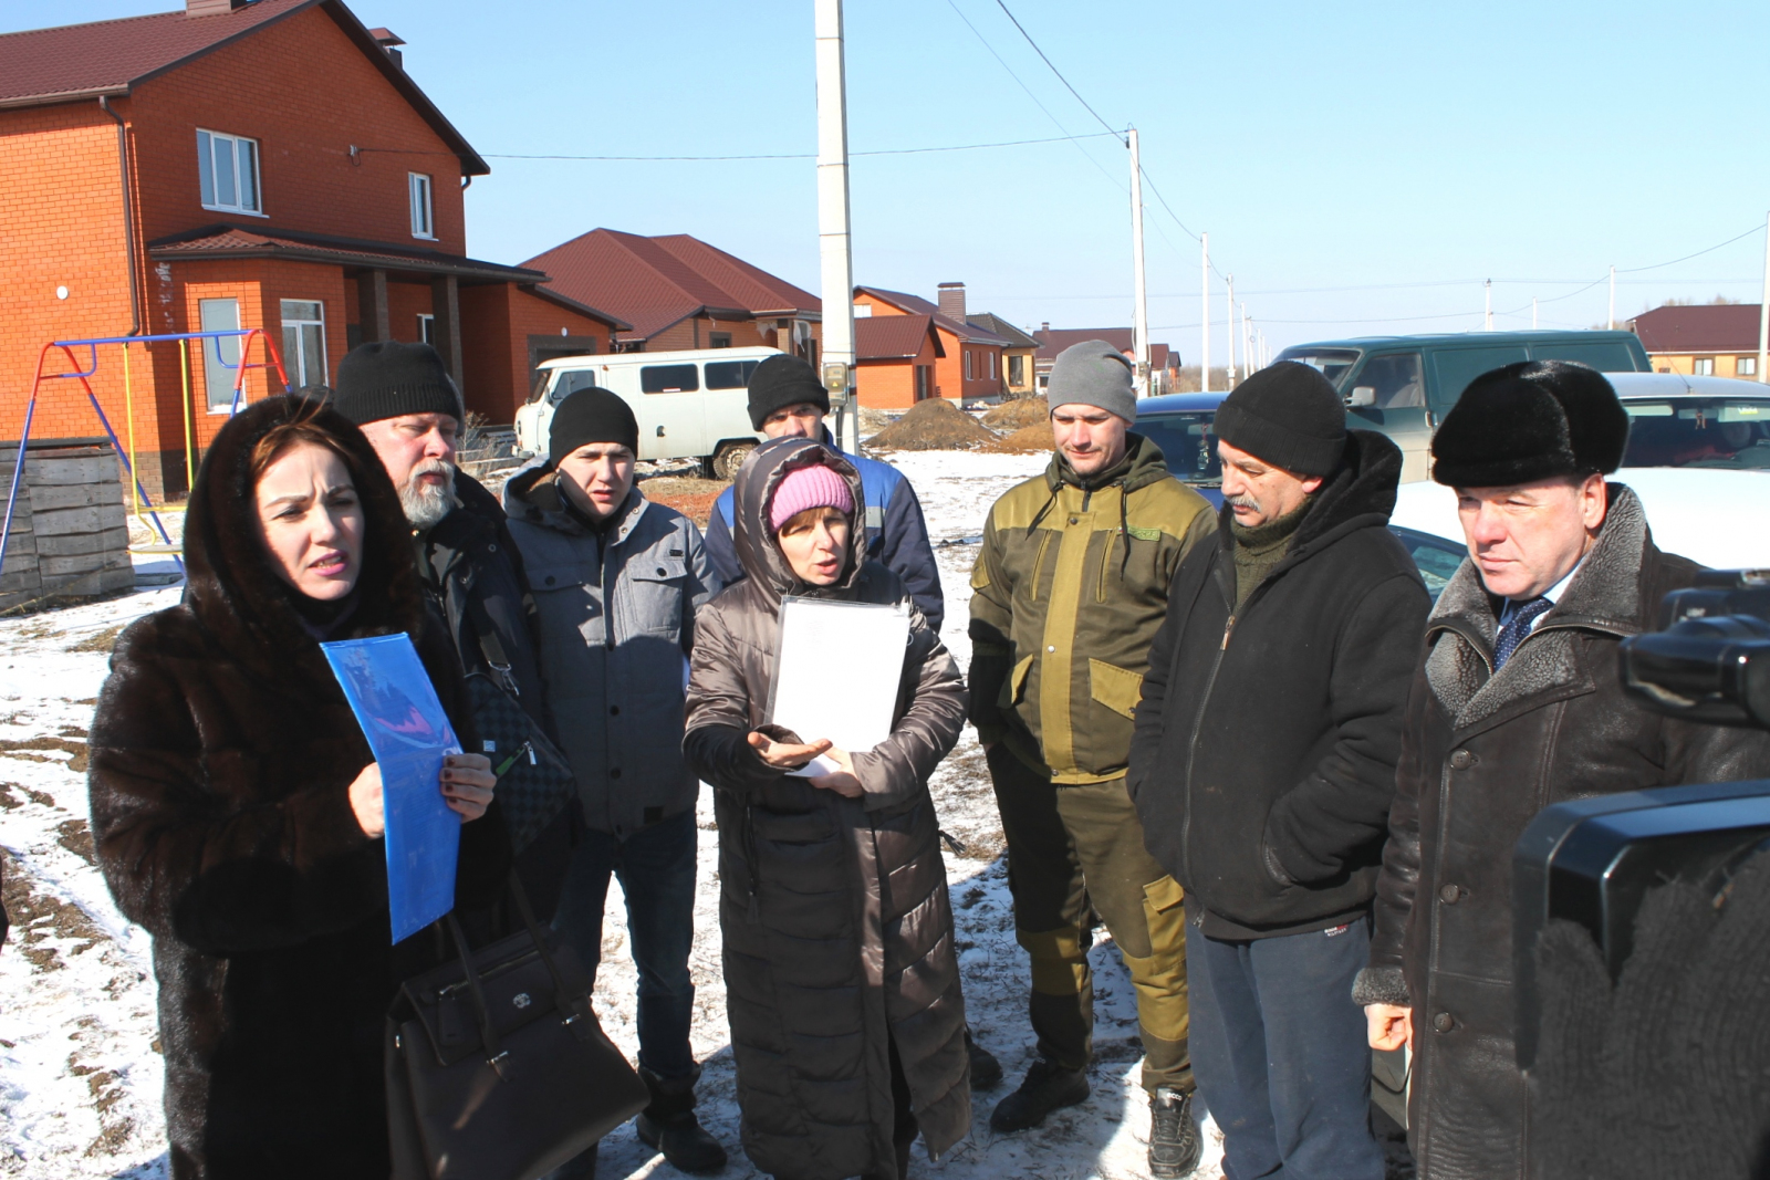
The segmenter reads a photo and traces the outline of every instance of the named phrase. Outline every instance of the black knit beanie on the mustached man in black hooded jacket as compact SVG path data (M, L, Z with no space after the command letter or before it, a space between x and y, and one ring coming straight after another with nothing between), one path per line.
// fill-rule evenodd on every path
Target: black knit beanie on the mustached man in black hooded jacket
M1345 402L1308 364L1278 361L1223 398L1214 430L1262 464L1328 476L1345 453Z

